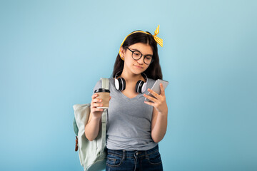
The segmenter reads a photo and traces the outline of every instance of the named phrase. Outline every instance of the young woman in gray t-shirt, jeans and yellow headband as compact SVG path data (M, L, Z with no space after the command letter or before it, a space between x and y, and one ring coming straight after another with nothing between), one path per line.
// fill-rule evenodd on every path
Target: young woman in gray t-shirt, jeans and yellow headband
M157 43L162 46L162 40L156 36L158 27L154 35L133 31L121 43L109 78L106 170L163 170L158 142L166 133L168 107L162 85L160 95L150 90L157 79L162 79L157 48ZM101 81L94 90L98 88ZM155 98L146 95L148 92ZM99 133L103 113L103 109L96 108L102 105L99 102L101 99L93 94L85 127L89 140Z

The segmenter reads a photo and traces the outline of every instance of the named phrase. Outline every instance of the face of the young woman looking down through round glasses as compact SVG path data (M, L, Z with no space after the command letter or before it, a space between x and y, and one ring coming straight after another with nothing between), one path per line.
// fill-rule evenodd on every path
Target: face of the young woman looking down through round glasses
M134 60L132 58L132 52L129 51L129 49L131 51L139 51L143 56L138 60ZM129 70L134 74L140 74L143 73L143 71L146 71L150 64L144 63L143 58L152 58L151 56L153 56L153 49L151 46L145 43L135 43L129 46L129 49L124 51L124 49L121 47L121 56L124 56L124 69Z

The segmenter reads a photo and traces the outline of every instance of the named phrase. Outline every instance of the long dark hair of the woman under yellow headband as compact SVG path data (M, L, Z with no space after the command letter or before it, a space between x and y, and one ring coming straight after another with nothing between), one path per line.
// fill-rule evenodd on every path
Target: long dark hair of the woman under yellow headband
M150 45L151 48L153 49L153 62L150 64L150 66L148 66L146 71L144 71L143 73L145 73L148 78L152 78L153 80L162 79L163 76L161 73L161 66L158 58L157 42L153 39L152 35L147 34L149 33L148 31L146 31L147 33L141 33L141 32L133 33L133 32L131 35L129 35L126 38L126 40L122 45L122 48L124 48L126 51L127 47L135 43L145 43ZM114 71L112 73L112 77L114 78L116 73L118 73L119 71L122 71L123 68L124 68L124 61L121 59L121 56L118 53L118 56L114 63Z

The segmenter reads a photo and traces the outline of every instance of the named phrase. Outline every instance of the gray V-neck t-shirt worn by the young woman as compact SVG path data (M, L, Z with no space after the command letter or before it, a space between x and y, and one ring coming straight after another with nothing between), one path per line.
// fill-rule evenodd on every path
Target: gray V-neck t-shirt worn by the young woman
M155 80L148 78L146 86L151 88ZM94 90L101 88L101 80ZM93 94L94 94L93 90ZM111 100L107 119L106 147L112 150L149 150L157 145L151 138L153 106L143 103L145 97L139 93L128 98L115 88L114 78L109 78Z

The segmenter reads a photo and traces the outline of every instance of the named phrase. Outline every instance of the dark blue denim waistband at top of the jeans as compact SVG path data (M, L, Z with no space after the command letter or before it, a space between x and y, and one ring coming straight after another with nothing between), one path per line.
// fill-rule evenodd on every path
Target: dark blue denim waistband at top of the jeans
M123 157L134 157L137 155L138 157L140 156L148 156L151 155L155 152L158 152L158 145L153 147L150 150L111 150L107 149L107 153L111 155L118 155L118 156L123 156Z

